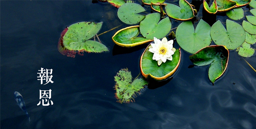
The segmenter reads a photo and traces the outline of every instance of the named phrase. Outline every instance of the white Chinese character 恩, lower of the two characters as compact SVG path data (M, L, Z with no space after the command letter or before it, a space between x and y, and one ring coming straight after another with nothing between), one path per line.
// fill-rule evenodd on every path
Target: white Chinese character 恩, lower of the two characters
M49 106L49 101L51 101L51 105L53 105L53 102L52 100L49 100L51 99L52 97L52 90L49 89L49 90L40 90L40 97L39 99L41 100L42 99L42 105L43 106ZM37 104L40 105L41 104L41 101L39 101L39 103Z

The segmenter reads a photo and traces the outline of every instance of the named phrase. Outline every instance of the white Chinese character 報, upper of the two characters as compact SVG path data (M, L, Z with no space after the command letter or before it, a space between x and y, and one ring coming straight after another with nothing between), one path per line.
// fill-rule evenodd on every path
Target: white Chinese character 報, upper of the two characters
M45 70L44 68L41 68L41 70L38 70L38 71L40 71L40 73L38 73L39 74L38 78L40 78L40 79L38 79L38 80L41 80L41 84L43 84L43 80L46 80L45 84L47 84L49 82L53 83L52 75L51 75L52 74L52 69L46 69Z

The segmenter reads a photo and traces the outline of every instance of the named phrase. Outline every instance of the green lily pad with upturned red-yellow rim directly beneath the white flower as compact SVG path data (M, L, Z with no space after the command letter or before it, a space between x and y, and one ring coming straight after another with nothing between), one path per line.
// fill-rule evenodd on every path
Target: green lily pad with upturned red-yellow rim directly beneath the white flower
M146 79L153 79L157 81L168 79L174 74L180 65L180 49L176 49L175 53L172 55L172 60L166 60L165 63L158 66L157 61L152 59L154 53L148 51L150 46L151 44L148 45L140 57L141 74Z

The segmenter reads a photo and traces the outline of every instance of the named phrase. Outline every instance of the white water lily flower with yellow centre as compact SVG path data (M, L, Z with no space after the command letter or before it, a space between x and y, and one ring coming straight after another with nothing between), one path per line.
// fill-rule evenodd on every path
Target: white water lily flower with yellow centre
M162 41L154 37L154 43L151 43L152 47L148 51L154 53L152 59L157 61L158 66L165 63L166 60L172 60L172 55L176 51L172 44L173 40L168 41L166 37Z

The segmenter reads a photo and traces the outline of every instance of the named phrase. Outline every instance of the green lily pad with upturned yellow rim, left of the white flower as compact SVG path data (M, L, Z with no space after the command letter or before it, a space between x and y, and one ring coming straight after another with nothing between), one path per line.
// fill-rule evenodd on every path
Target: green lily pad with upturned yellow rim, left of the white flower
M113 35L112 40L116 45L122 47L133 47L153 41L145 37L137 37L139 33L139 26L129 26L117 31Z

